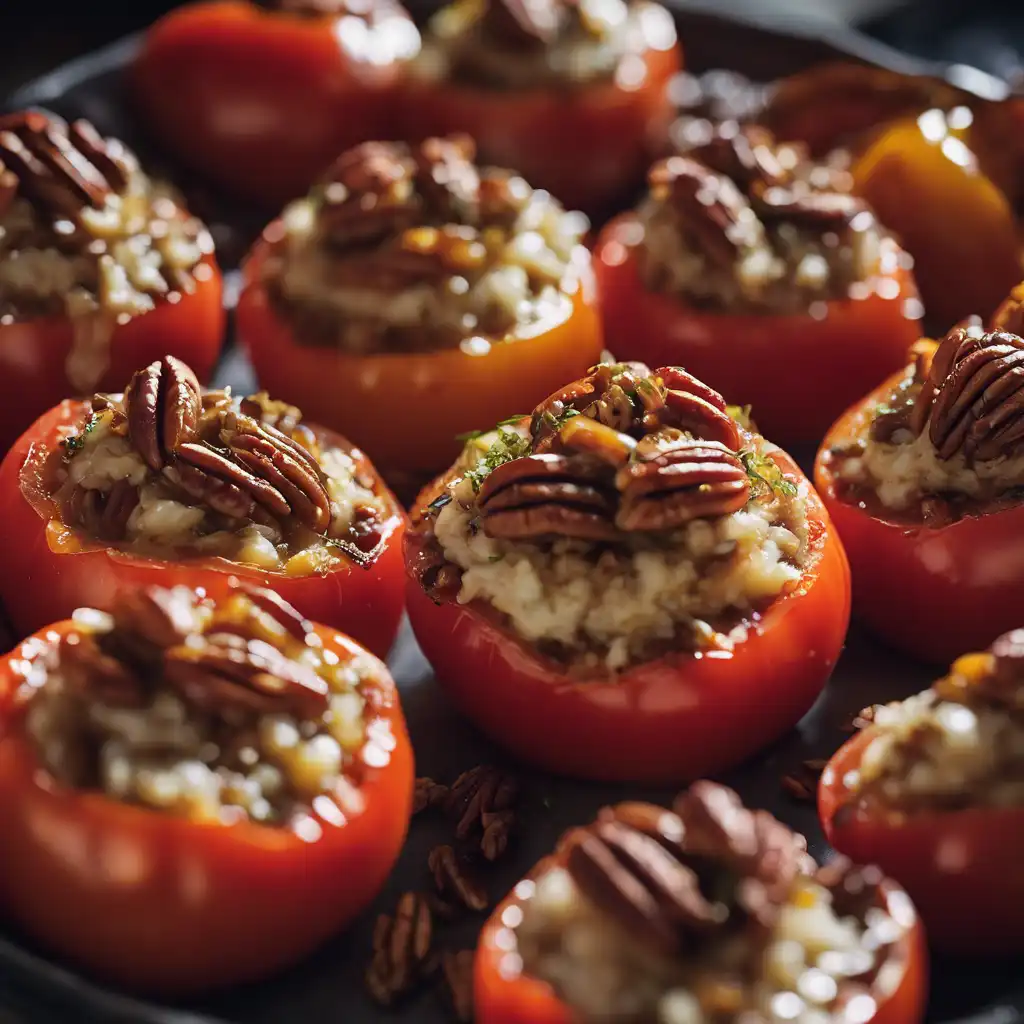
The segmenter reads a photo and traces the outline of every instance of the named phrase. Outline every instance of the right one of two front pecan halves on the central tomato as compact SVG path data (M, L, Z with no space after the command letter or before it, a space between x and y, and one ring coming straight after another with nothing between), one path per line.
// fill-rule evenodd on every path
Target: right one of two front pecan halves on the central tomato
M673 529L691 519L729 515L750 500L739 458L723 444L683 438L624 466L615 475L623 530Z

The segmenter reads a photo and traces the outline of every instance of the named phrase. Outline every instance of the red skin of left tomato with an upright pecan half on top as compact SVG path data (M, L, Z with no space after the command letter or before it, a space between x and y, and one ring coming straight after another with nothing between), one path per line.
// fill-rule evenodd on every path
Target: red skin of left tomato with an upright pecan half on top
M0 596L20 635L69 617L79 607L108 608L124 588L181 585L215 596L237 578L276 591L312 622L344 630L379 657L387 656L403 604L406 516L386 488L390 515L383 524L383 547L365 568L345 560L325 575L290 577L224 558L169 562L130 555L77 537L53 519L45 499L46 456L61 430L82 423L86 409L83 401L65 401L50 410L0 464L0 512L8 538L0 549ZM329 442L341 441L315 429Z

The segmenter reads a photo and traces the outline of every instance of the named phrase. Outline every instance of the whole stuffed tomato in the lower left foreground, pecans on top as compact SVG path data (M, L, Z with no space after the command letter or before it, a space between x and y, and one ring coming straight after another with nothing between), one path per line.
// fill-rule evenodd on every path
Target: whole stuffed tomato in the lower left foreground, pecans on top
M123 590L0 662L0 906L131 989L261 978L373 898L412 783L352 641L269 591Z

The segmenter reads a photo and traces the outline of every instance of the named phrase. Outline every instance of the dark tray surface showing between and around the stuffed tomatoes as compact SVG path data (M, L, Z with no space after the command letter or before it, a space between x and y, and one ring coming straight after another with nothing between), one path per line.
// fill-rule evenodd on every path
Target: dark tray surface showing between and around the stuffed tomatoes
M790 26L767 27L729 20L714 13L711 4L687 4L678 13L690 70L731 68L759 81L790 74L837 56L928 74L948 70L910 58L863 36L843 31L808 33ZM217 197L202 183L176 174L173 162L162 159L148 144L144 131L131 116L123 91L122 71L135 52L135 39L119 43L68 65L20 90L10 108L39 105L65 116L85 116L105 133L118 135L182 185L197 212L214 225L221 255L232 266L252 232L258 230L256 211L241 209ZM959 78L958 75L955 77ZM972 78L970 84L986 94L998 94L1001 83ZM237 274L228 275L228 300ZM219 370L219 382L238 388L250 386L252 375L240 354L228 347ZM399 681L406 714L416 748L420 774L446 780L481 761L501 755L463 722L435 686L408 628L390 658ZM856 627L828 683L811 713L788 736L755 761L728 773L723 780L744 799L772 810L804 831L818 858L827 856L813 808L783 796L780 778L807 758L831 753L843 738L842 726L864 705L897 698L927 685L931 674L864 636ZM630 798L666 800L669 790L640 786L588 785L522 772L524 797L522 828L506 860L488 879L493 897L503 895L532 863L550 850L568 825L587 821L603 804ZM450 1021L434 992L424 992L400 1011L385 1012L364 993L361 973L370 948L373 921L393 905L396 895L426 883L426 855L441 841L443 826L416 820L401 860L374 907L347 934L339 936L314 956L289 973L219 994L188 1006L146 1004L106 991L48 962L31 943L10 930L0 929L0 1022L81 1021L140 1022L140 1024L370 1024L376 1021ZM0 842L2 842L0 837ZM1024 907L1022 907L1024 912ZM475 939L480 919L453 929L453 948ZM936 961L930 1024L1024 1024L1024 965L966 964ZM1015 991L1015 988L1017 989Z

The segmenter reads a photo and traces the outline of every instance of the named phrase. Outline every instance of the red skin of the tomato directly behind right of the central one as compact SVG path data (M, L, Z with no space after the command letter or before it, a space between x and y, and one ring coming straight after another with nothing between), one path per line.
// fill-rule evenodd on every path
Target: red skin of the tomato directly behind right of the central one
M920 337L913 278L895 244L870 294L824 304L824 315L733 315L684 305L640 281L636 218L605 227L595 250L608 348L648 366L682 366L727 401L752 406L766 436L816 441L837 416L906 361ZM814 368L813 386L794 367Z

